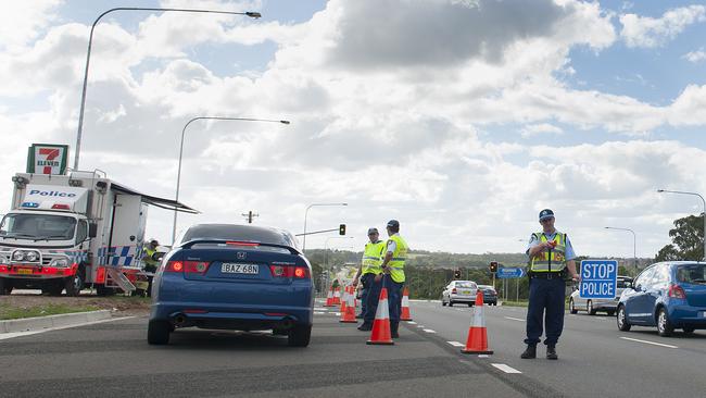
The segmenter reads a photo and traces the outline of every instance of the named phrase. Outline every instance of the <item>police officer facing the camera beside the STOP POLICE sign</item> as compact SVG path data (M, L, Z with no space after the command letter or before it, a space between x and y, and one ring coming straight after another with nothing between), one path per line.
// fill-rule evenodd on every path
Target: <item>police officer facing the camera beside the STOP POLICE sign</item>
M573 281L580 277L576 272L576 253L566 234L554 227L554 212L540 212L542 232L530 237L527 254L530 259L530 294L527 308L527 349L520 358L537 358L537 344L542 336L542 323L546 324L546 358L558 359L556 343L564 328L564 300L567 275Z

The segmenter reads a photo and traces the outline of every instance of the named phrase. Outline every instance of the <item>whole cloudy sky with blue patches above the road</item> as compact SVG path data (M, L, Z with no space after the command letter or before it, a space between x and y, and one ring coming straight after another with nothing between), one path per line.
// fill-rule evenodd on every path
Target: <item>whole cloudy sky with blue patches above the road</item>
M416 249L524 251L551 208L580 254L653 257L706 194L706 5L572 0L25 0L0 14L0 203L31 142L76 140L80 169L174 197L198 222L300 233L398 219ZM73 160L73 158L72 158ZM8 210L0 208L0 213ZM148 235L171 240L153 209ZM332 235L328 235L332 236Z

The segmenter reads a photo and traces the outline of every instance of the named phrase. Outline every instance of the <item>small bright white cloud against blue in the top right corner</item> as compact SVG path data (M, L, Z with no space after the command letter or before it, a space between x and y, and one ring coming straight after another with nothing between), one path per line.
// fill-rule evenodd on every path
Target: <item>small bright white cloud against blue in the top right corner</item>
M689 5L667 11L659 18L636 14L620 15L620 37L628 47L659 47L681 34L686 26L706 21L706 7Z

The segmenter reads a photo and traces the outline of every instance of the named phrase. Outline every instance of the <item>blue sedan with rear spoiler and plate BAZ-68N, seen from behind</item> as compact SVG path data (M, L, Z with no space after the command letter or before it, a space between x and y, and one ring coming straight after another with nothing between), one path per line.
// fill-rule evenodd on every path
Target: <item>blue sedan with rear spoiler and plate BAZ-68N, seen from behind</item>
M286 231L252 225L191 226L152 284L148 343L176 328L266 331L308 345L314 316L312 268Z

